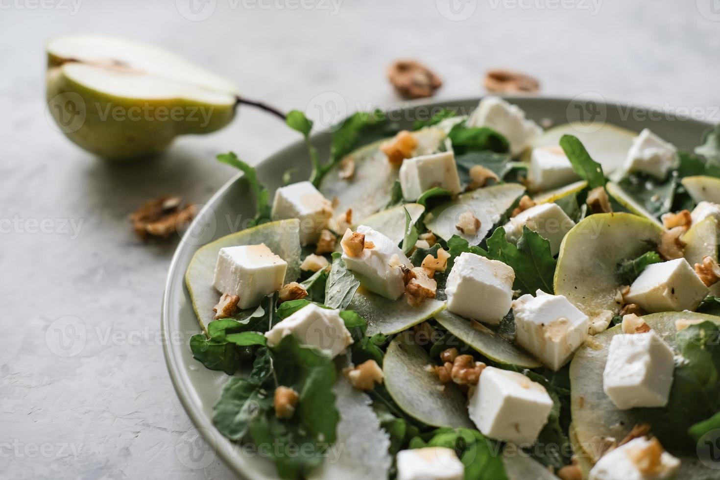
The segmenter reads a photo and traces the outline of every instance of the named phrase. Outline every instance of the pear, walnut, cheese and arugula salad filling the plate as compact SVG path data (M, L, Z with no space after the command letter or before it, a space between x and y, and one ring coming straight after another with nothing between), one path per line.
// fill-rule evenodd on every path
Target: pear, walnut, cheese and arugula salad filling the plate
M186 271L222 435L284 479L720 476L720 128L681 151L490 96L355 114L322 162L287 123L310 178L219 155L256 215Z

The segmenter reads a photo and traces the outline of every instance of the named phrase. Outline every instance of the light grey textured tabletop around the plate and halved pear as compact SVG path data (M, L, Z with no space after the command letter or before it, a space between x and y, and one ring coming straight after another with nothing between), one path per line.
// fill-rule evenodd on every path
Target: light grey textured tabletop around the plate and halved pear
M481 94L482 72L505 66L540 78L544 94L598 92L719 120L715 0L607 0L598 11L598 0L554 10L553 0L458 0L464 10L449 17L475 9L463 21L440 13L444 0L346 1L336 14L329 1L320 5L328 9L291 10L292 0L209 0L200 14L210 17L192 21L180 13L189 1L0 3L7 478L230 477L193 443L163 361L158 315L176 240L140 243L127 214L166 193L202 203L233 174L215 153L232 149L255 162L296 138L245 109L227 130L181 139L152 162L102 163L45 121L45 38L80 31L156 42L283 109L336 94L348 110L388 104L396 97L384 68L410 56L441 73L444 98Z

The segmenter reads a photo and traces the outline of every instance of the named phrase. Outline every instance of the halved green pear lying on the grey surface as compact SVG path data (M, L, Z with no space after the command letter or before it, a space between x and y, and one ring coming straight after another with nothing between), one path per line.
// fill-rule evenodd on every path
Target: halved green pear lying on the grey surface
M177 135L214 132L235 116L232 82L159 47L64 35L47 50L50 114L70 140L103 158L160 153Z

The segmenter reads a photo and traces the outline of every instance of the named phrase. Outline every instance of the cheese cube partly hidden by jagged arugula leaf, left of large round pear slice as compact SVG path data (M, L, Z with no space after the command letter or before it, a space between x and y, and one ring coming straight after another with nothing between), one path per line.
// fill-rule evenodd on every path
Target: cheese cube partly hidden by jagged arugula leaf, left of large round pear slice
M528 227L548 240L552 255L557 255L562 239L572 227L575 227L575 222L563 212L558 204L548 203L528 208L511 218L503 227L508 242L518 243L523 235L523 227Z

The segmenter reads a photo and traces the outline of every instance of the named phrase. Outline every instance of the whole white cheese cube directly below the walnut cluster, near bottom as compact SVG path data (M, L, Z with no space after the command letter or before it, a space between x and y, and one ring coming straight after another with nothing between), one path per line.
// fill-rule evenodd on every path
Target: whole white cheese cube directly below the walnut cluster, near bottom
M552 399L522 373L485 367L467 409L482 435L529 446L547 423Z

